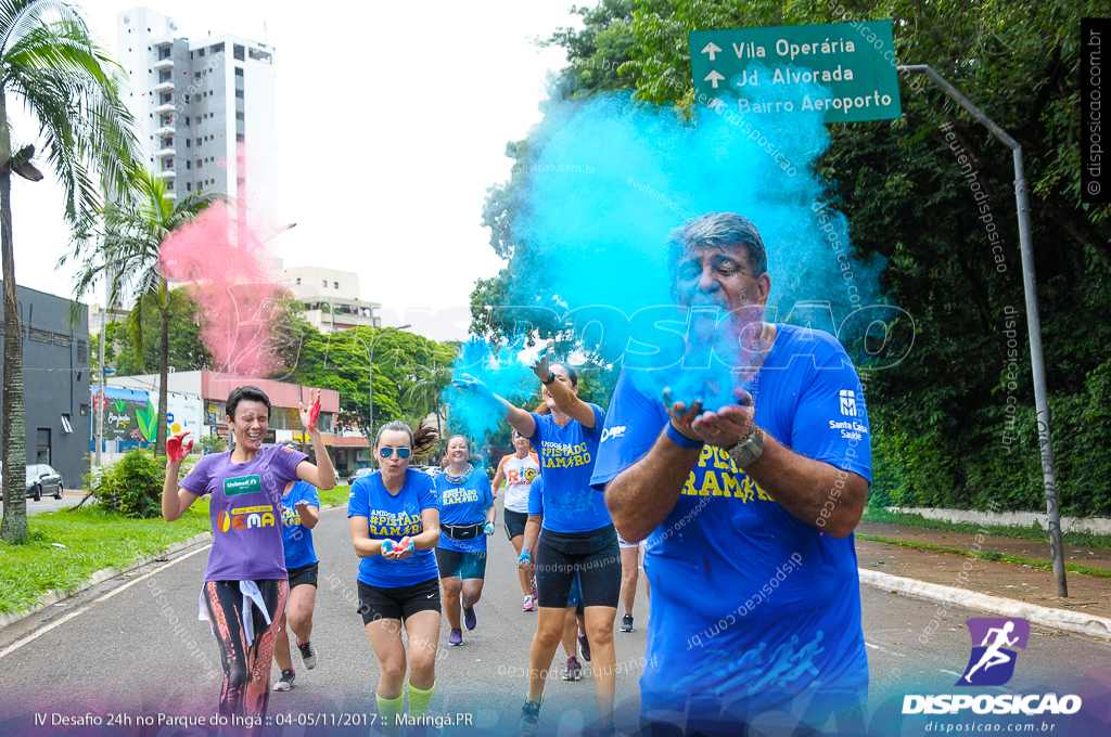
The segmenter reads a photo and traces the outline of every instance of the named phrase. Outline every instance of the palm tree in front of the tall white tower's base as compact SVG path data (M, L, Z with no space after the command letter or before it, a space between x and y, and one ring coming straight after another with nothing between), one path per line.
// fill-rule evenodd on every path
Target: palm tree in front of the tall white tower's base
M170 306L174 299L162 270L162 244L218 199L216 193L196 192L177 202L167 192L166 180L137 168L131 174L130 196L109 203L102 218L89 219L74 233L73 255L86 254L74 289L77 299L100 279L108 282L109 304L121 304L126 296L132 296L134 306L126 325L140 361L151 340L144 315L149 310L160 313L156 456L166 455Z

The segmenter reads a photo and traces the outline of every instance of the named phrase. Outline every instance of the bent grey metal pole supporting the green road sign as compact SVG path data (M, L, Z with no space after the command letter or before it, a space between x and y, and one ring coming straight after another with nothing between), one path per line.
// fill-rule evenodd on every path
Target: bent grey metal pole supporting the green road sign
M1042 486L1045 491L1045 512L1049 525L1049 545L1053 556L1053 575L1057 577L1057 595L1069 596L1069 584L1064 575L1064 549L1061 542L1061 507L1057 499L1057 472L1053 468L1053 444L1049 432L1049 394L1045 390L1045 361L1041 347L1041 317L1038 314L1038 280L1034 277L1033 238L1030 234L1030 202L1027 193L1027 175L1022 165L1022 147L975 107L957 88L928 64L898 67L900 73L925 74L957 104L968 111L992 135L1011 150L1014 159L1014 200L1019 210L1019 248L1022 254L1022 283L1025 287L1027 332L1030 334L1030 368L1034 381L1034 407L1038 412L1038 441L1042 461Z

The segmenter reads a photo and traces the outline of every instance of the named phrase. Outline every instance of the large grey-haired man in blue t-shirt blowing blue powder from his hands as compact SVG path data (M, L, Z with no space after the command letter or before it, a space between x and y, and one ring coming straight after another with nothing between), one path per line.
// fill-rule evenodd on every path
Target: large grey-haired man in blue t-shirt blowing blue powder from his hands
M740 346L728 357L751 383L703 412L695 397L720 397L720 384L691 391L692 372L627 365L610 403L591 482L621 536L648 538L644 733L787 734L831 716L859 729L868 658L852 531L871 482L860 381L833 336L762 322L771 279L747 219L703 215L669 246L679 305L730 315L703 335L715 351Z

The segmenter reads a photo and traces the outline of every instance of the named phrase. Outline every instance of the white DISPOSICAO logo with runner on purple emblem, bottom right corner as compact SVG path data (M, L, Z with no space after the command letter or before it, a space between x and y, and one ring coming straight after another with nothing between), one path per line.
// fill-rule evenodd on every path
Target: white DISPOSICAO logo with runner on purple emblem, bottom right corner
M1010 649L1027 648L1030 623L1015 617L973 617L967 619L972 637L972 655L954 686L1002 686L1014 675L1019 654ZM1075 714L1079 696L1057 694L989 695L931 694L903 697L903 714L959 714L971 708L974 714Z

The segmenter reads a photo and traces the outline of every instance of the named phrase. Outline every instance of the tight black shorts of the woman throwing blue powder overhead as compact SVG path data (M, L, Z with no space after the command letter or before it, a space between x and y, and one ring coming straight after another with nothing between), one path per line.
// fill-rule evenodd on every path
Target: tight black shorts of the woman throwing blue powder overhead
M568 605L575 574L582 606L617 607L621 598L621 551L613 525L585 533L540 532L537 544L537 589L540 606Z

